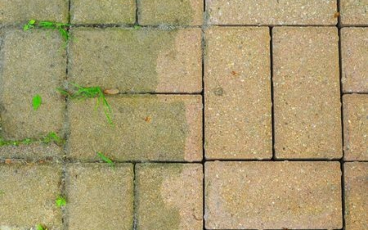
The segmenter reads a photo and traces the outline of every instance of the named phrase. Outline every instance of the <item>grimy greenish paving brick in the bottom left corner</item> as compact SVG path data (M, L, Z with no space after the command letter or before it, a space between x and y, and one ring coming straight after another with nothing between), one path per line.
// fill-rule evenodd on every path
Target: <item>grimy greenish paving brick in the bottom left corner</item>
M58 164L0 164L0 229L30 229L44 224L61 230L61 209L55 205L61 188Z

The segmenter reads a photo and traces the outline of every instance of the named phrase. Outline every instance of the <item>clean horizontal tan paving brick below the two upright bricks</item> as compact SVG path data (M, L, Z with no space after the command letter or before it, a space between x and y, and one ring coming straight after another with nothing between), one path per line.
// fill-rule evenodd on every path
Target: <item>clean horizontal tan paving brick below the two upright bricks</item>
M207 229L339 229L339 162L206 162Z

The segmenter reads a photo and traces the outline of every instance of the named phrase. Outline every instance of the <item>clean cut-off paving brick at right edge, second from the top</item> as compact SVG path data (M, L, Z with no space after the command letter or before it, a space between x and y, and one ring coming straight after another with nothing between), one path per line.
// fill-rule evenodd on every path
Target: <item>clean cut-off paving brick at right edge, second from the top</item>
M343 92L368 93L368 28L341 29Z

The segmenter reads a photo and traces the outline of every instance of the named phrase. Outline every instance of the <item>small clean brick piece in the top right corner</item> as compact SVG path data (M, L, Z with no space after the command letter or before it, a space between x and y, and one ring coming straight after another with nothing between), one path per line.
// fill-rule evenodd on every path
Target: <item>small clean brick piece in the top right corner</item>
M340 0L341 24L368 25L368 0Z

